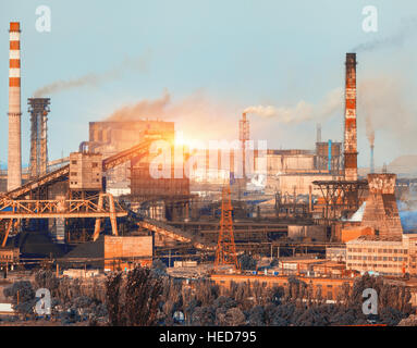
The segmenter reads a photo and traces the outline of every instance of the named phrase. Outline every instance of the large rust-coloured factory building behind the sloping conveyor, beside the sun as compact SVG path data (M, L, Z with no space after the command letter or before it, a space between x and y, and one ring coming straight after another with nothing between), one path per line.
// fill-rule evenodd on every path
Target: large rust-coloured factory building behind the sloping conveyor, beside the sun
M173 145L174 123L158 120L108 121L89 123L88 148L110 157L126 150L144 140L146 134L158 133ZM172 153L174 153L172 148ZM188 178L175 177L175 163L172 156L171 178L155 178L150 173L150 157L136 158L121 164L106 174L107 191L114 196L132 195L137 197L189 195Z

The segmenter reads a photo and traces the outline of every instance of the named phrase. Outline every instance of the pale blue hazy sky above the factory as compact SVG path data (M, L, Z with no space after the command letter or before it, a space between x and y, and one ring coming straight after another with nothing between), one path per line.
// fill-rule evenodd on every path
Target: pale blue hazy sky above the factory
M361 11L369 4L378 9L377 33L363 30ZM35 28L38 5L51 9L50 33ZM0 0L0 163L7 162L11 21L22 26L24 163L29 157L27 98L47 85L66 82L74 87L47 95L50 159L76 151L88 139L88 122L165 92L176 129L186 138L233 139L249 105L319 105L343 87L345 53L370 42L369 49L357 51L357 76L358 85L369 80L367 96L377 104L367 113L373 110L380 166L417 153L416 18L413 0ZM361 112L358 108L358 162L364 166L369 146ZM326 119L249 120L252 136L267 139L269 148L312 149L318 121L323 140L342 140L343 96Z

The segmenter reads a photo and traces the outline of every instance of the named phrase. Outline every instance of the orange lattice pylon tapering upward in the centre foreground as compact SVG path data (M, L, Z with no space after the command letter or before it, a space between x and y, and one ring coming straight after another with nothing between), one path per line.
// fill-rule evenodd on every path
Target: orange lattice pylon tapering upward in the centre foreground
M238 269L232 212L231 190L230 185L226 185L222 189L219 240L214 261L216 269L222 265L233 265L235 269Z

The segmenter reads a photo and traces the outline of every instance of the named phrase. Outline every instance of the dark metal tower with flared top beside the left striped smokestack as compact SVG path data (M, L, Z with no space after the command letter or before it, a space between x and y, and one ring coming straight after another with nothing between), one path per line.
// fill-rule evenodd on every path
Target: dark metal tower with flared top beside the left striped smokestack
M49 98L29 98L30 113L30 164L29 177L36 178L47 173L48 165L48 113Z

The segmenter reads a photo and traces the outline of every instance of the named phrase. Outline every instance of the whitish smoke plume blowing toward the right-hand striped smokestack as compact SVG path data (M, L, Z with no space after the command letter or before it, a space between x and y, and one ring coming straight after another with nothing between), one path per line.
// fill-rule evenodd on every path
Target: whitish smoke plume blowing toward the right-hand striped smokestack
M244 112L258 115L265 119L277 117L279 122L285 124L299 124L307 121L322 121L335 111L341 110L343 102L343 89L331 90L318 104L314 105L301 100L295 107L272 107L254 105L248 107Z

